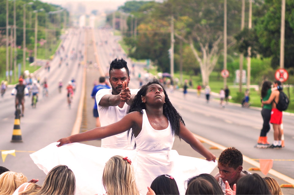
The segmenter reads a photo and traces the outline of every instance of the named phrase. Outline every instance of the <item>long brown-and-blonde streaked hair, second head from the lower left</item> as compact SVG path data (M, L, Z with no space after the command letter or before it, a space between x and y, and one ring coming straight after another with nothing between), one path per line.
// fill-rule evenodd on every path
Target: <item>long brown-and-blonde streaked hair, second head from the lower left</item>
M73 171L66 165L58 165L49 171L41 188L33 184L21 194L74 194L75 188Z

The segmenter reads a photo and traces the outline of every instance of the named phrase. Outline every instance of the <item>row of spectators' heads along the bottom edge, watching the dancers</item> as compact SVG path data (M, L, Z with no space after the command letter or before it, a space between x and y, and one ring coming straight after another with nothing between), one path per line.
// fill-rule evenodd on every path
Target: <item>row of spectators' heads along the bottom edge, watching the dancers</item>
M187 178L186 194L283 194L279 184L273 178L262 178L259 174L248 172L242 176L240 174L243 163L241 156L241 152L236 148L225 149L218 161L219 174L214 177L210 174L200 174ZM66 165L58 165L49 171L43 185L29 183L22 173L9 171L5 167L0 167L0 174L0 195L75 194L76 179L73 171ZM225 192L216 179L218 177L227 183ZM102 182L108 195L140 194L135 182L134 167L128 157L111 157L105 164ZM228 185L234 187L231 189ZM148 187L147 194L179 194L177 182L172 175L159 175Z

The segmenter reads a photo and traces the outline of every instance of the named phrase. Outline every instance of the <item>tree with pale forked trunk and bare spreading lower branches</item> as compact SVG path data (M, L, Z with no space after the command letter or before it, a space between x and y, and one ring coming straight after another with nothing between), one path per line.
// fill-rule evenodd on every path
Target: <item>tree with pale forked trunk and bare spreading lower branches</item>
M199 62L202 74L202 84L209 83L209 75L216 66L222 54L223 38L223 2L215 0L190 0L183 2L183 10L176 19L175 36L189 44L195 58ZM240 5L236 1L228 1L228 47L234 44L232 37L236 28L239 28L238 11Z

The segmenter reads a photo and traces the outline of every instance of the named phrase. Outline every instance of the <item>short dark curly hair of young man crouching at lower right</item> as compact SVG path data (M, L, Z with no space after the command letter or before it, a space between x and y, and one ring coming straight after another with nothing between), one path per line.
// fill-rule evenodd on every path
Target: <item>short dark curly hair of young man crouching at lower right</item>
M243 165L243 155L236 148L227 148L221 152L218 163L224 167L233 167L237 169Z

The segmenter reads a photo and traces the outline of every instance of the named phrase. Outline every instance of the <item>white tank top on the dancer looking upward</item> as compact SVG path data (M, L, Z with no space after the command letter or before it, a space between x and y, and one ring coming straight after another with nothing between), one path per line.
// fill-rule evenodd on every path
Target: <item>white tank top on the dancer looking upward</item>
M175 136L171 132L171 125L168 121L168 128L155 130L150 125L145 109L143 110L142 130L135 137L136 149L145 151L171 150Z

